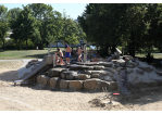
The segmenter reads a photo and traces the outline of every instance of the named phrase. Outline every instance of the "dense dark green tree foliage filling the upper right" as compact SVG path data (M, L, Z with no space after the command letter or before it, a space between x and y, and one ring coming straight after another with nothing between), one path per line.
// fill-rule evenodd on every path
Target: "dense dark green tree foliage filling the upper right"
M135 56L136 50L161 41L160 13L158 3L90 3L78 20L87 40L99 45L103 53L127 45L129 54Z

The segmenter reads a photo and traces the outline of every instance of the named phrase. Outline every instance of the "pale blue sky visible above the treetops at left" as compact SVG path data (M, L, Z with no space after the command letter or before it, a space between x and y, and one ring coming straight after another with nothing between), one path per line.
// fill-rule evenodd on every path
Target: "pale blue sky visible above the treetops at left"
M22 5L27 5L28 3L0 3L0 5L3 4L5 8L8 8L8 11L13 8L21 8ZM50 4L54 11L59 11L60 13L63 13L63 11L66 12L66 15L70 15L71 18L76 20L78 15L82 15L84 10L86 10L86 5L88 3L46 3Z

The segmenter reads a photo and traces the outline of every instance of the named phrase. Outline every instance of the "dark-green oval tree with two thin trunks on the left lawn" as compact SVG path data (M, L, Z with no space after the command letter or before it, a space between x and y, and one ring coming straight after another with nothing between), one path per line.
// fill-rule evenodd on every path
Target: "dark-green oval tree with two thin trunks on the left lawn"
M23 7L17 18L11 21L11 28L13 29L11 37L17 41L18 50L21 41L25 40L27 51L27 40L33 38L37 31L36 24L36 20L28 7Z

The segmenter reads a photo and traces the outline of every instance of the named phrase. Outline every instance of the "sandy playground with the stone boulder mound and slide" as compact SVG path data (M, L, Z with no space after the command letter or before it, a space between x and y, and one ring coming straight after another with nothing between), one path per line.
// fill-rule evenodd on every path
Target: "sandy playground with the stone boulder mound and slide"
M125 58L0 61L0 111L161 111L162 68Z

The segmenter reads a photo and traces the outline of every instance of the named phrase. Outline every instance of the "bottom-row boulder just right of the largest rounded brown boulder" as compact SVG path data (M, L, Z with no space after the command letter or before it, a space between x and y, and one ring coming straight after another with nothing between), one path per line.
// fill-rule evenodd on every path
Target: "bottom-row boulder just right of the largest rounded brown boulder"
M102 90L102 88L107 88L107 90L109 89L109 85L110 85L110 83L108 83L108 81L104 81L104 80L99 80L98 83L97 83L97 90Z

